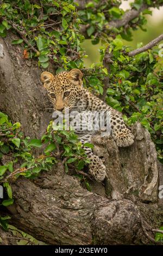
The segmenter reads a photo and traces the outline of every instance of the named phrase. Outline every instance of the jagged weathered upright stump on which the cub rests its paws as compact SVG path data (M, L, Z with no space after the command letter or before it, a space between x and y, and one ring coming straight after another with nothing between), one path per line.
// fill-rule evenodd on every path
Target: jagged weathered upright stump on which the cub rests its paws
M96 154L103 157L114 199L131 193L141 200L158 200L158 162L154 143L149 132L140 123L131 127L135 143L118 148L111 137L95 136Z

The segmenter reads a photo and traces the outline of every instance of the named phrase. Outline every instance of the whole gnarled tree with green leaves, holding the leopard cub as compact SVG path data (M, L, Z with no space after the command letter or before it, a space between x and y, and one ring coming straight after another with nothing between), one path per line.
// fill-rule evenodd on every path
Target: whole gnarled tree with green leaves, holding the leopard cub
M162 1L136 0L126 12L120 1L0 2L0 175L8 194L1 226L8 228L8 214L9 223L53 245L159 243L162 66L161 49L153 47L163 36L133 51L122 39L131 40ZM101 63L89 69L83 65L85 38L102 42ZM105 186L82 170L87 160L73 131L54 133L49 124L52 106L40 74L72 68L81 69L85 86L123 112L129 125L139 120L145 126L132 126L130 148L95 137L108 173ZM2 229L0 236L15 243Z

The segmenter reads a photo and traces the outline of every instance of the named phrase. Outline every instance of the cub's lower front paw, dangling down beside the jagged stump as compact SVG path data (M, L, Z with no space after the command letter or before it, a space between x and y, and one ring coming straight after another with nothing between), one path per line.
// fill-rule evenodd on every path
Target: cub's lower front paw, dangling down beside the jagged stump
M102 182L106 177L106 167L98 156L94 156L89 164L89 173L95 178L96 181Z

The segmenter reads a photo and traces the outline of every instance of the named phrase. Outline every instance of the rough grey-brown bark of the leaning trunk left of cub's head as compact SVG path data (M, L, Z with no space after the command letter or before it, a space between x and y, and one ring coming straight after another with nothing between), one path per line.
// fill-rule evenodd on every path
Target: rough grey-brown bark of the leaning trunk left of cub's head
M3 57L0 57L0 109L14 121L21 121L26 136L45 132L51 119L46 90L40 81L41 70L36 62L23 59L23 48L11 47L16 35L0 38Z

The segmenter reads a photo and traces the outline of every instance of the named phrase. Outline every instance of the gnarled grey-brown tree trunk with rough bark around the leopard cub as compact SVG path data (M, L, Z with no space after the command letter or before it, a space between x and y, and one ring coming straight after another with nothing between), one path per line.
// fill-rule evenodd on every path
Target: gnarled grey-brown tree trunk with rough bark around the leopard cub
M0 39L0 109L12 121L20 121L26 136L39 138L51 119L46 109L50 105L37 63L23 59L20 46L11 47L15 37L9 34ZM118 148L111 137L93 138L108 179L105 186L90 181L92 192L78 178L65 174L61 162L35 180L19 178L12 184L11 224L53 245L154 242L152 228L160 227L163 216L163 199L158 202L162 166L158 168L149 132L139 123L132 130L135 143L129 148Z

